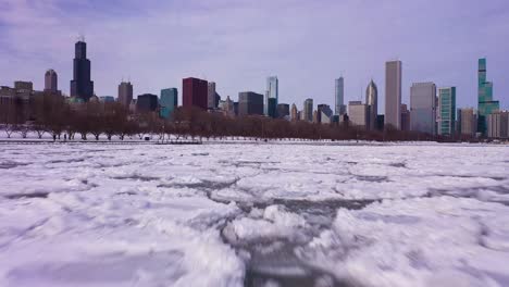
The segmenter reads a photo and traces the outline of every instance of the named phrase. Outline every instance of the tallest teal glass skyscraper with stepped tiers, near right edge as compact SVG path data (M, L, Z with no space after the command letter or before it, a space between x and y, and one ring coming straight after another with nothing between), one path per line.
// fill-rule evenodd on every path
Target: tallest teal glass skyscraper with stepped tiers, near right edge
M493 83L486 80L486 59L479 59L477 87L477 132L486 135L486 116L500 109L493 100Z

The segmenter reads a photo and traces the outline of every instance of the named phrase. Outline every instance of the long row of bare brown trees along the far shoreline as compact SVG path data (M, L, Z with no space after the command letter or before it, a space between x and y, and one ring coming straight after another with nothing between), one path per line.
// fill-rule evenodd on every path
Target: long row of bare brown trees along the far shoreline
M35 132L38 138L45 133L53 138L73 140L78 135L83 140L98 140L104 135L109 140L139 138L147 134L167 138L226 138L251 139L306 139L306 140L457 140L415 132L401 132L390 126L385 130L363 130L348 123L313 124L303 121L288 122L262 116L227 117L199 109L177 108L171 118L160 118L157 113L133 114L117 102L72 104L65 98L45 93L34 100L11 99L0 102L0 126L8 137L20 133L27 137Z

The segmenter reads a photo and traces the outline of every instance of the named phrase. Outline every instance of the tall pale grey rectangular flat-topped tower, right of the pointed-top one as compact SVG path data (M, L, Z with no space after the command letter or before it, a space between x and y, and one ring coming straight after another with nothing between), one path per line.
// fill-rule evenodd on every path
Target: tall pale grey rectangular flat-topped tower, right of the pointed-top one
M401 61L385 63L385 125L401 129Z

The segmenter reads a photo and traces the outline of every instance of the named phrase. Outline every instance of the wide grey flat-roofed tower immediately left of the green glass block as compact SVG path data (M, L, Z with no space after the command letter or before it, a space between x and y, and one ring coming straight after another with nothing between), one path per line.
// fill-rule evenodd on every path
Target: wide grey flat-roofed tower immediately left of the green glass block
M435 135L436 85L414 83L410 87L410 129Z

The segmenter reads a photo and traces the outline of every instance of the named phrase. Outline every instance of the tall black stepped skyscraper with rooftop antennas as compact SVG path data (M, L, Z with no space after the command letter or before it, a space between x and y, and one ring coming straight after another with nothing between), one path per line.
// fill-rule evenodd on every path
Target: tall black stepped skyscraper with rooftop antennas
M71 97L88 101L94 96L94 82L90 80L90 61L87 59L87 43L78 40L75 45L74 79L71 80Z

